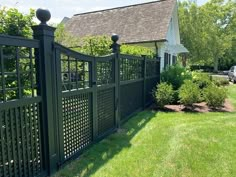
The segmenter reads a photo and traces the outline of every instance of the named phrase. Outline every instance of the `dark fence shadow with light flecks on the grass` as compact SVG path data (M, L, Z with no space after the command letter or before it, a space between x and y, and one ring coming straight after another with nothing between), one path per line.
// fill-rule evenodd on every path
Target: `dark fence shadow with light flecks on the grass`
M122 149L130 148L132 138L155 116L154 111L144 111L126 122L116 133L105 138L85 151L59 171L55 177L88 177L117 155Z

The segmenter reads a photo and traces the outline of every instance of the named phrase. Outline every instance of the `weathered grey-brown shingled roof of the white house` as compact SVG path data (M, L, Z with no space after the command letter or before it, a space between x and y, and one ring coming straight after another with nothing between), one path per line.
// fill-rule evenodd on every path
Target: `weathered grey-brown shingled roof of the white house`
M161 0L74 15L65 29L78 37L116 33L121 43L166 40L176 0Z

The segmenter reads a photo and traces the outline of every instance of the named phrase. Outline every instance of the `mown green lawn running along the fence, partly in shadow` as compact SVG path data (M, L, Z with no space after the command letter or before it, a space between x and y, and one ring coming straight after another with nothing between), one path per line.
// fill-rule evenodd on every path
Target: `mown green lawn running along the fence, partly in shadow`
M55 176L234 177L236 112L144 111Z

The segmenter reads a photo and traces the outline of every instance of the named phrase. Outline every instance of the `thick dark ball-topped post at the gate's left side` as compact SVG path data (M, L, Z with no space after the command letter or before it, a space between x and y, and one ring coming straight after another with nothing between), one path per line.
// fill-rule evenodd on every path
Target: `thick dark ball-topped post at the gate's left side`
M39 51L36 53L37 81L42 96L42 127L41 133L43 137L43 163L48 175L57 170L58 152L57 152L57 124L55 111L55 65L54 65L54 31L55 28L50 27L46 22L51 18L48 10L38 9L37 18L41 23L33 26L33 37L40 41Z

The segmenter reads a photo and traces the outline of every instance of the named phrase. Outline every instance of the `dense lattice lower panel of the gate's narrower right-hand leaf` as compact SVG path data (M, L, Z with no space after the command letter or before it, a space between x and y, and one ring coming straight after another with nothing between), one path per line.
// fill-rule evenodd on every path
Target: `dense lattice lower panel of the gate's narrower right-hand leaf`
M98 134L102 135L115 126L114 88L98 91Z

